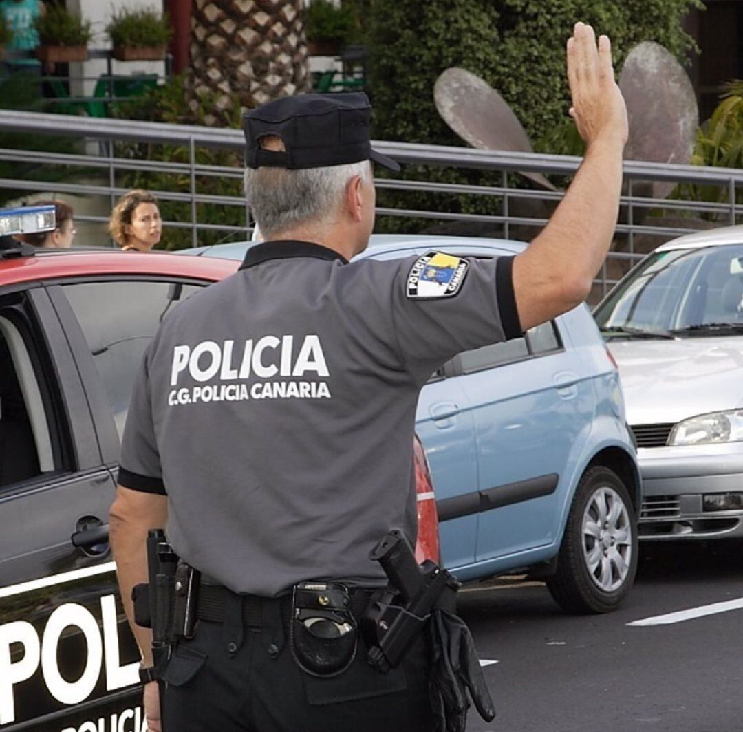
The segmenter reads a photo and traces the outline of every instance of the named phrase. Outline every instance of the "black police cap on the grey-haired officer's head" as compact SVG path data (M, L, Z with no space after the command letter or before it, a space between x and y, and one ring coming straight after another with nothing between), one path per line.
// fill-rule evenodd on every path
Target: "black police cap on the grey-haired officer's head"
M371 149L371 104L362 92L282 97L243 116L245 164L249 168L323 168L371 160L399 170L392 158ZM266 150L262 137L275 135L285 151Z

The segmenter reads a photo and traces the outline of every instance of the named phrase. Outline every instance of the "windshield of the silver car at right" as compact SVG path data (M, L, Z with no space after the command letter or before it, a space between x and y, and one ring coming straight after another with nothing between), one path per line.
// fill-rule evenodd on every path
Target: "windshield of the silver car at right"
M608 336L743 332L743 244L652 254L594 317Z

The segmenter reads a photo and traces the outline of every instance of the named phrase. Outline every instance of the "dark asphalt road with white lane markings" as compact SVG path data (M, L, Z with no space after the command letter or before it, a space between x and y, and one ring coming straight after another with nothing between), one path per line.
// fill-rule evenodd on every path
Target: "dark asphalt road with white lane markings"
M713 603L733 609L628 625ZM609 615L565 615L517 578L465 586L458 612L498 661L484 668L498 716L470 713L468 732L743 730L743 542L643 545Z

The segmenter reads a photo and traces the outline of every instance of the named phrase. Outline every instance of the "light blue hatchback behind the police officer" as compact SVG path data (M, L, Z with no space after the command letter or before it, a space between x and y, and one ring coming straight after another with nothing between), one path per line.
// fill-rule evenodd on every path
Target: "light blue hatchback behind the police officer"
M184 253L242 259L250 242ZM440 250L510 256L498 239L374 236L357 259ZM421 392L441 555L461 580L528 572L571 612L607 612L637 568L640 473L614 360L585 306L458 354Z

